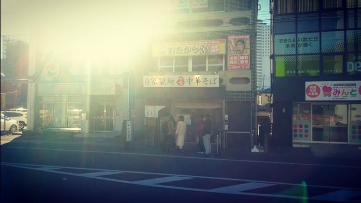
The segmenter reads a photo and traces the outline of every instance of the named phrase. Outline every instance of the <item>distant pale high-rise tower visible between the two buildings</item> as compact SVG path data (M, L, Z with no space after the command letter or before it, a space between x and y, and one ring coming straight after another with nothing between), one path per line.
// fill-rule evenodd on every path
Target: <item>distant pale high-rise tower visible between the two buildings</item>
M271 87L271 24L257 21L257 90Z

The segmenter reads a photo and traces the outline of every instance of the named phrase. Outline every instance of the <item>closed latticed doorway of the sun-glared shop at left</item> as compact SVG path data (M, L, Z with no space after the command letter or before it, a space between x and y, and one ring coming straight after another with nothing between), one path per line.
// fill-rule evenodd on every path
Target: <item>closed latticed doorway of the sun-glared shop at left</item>
M113 132L113 123L113 97L92 97L90 101L90 132Z

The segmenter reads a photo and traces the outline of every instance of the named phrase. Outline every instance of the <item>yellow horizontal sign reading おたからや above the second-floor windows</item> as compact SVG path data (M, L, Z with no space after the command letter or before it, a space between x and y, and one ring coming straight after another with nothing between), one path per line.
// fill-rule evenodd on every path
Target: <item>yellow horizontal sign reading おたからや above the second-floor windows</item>
M226 40L171 42L153 45L153 56L226 54Z

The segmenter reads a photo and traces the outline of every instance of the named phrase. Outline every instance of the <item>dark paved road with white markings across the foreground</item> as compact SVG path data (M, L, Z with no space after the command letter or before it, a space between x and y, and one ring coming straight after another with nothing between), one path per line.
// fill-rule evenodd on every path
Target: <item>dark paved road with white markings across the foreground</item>
M360 162L145 153L104 141L1 145L1 202L361 202Z

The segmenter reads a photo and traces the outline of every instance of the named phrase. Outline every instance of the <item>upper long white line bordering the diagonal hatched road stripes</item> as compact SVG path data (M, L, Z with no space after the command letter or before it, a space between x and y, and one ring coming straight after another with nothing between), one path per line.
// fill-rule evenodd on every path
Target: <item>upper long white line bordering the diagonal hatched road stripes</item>
M102 169L102 168L79 168L79 167L67 167L67 166L49 166L49 165L38 165L38 164L27 164L27 163L12 163L12 162L0 162L2 165L11 165L11 166L29 166L29 167L52 167L52 168L67 168L67 169L78 169L78 170L97 170L97 171L113 171L119 173L135 173L135 174L148 174L148 175L163 175L163 176L181 176L181 177L191 177L191 178L206 178L206 179L216 179L216 180L230 180L230 181L245 181L245 182L257 182L257 183L270 183L278 185L290 185L290 186L302 186L305 187L305 184L294 184L294 183L282 183L282 182L271 182L271 181L260 181L260 180L248 180L248 179L236 179L236 178L221 178L221 177L211 177L211 176L194 176L194 175L181 175L181 174L172 174L172 173L151 173L151 172L139 172L139 171L125 171L125 170L111 170L111 169ZM27 167L28 168L28 167ZM33 168L30 168L33 169ZM307 187L316 187L316 188L331 188L338 190L359 190L359 188L345 188L345 187L334 187L334 186L319 186L319 185L307 185Z

